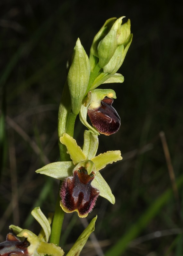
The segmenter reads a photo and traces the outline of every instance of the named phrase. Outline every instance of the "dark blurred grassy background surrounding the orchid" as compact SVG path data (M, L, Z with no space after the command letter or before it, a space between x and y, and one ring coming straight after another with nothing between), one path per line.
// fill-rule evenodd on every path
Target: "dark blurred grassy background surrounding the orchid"
M10 224L39 233L30 215L35 206L45 215L54 211L58 183L35 170L59 160L57 111L66 61L77 38L89 54L104 22L126 16L123 22L131 20L134 37L118 71L125 81L107 85L117 94L113 106L121 128L99 137L99 153L119 149L124 157L102 171L116 204L98 199L87 217L90 221L98 214L96 237L81 255L103 255L93 246L95 238L108 256L183 255L182 15L181 1L0 1L0 242ZM83 130L77 121L80 145ZM172 189L161 131L178 194ZM85 222L76 213L65 215L64 251Z

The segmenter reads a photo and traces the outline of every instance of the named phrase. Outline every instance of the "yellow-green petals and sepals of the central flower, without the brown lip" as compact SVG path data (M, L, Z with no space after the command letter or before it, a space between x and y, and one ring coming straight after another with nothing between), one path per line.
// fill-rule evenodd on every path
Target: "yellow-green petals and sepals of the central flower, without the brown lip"
M120 151L107 151L106 153L95 156L98 148L98 136L91 130L84 132L83 150L77 145L74 138L66 133L60 137L60 141L67 147L67 153L70 155L72 161L70 163L68 161L51 163L38 169L36 172L64 180L65 177L71 176L71 168L73 168L72 172L74 173L74 170L84 167L88 174L91 174L91 172L95 174L91 185L100 191L100 196L114 204L115 197L99 170L108 164L121 160Z

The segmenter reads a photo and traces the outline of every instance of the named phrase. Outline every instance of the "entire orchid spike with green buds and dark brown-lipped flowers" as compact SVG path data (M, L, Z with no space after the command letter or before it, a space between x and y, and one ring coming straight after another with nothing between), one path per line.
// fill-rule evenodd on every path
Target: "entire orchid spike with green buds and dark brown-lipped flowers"
M130 20L122 24L123 17L110 18L95 35L88 57L79 38L70 61L67 62L67 79L62 93L58 113L58 144L60 161L50 163L38 169L36 173L48 175L60 181L59 205L66 213L77 212L79 217L86 217L93 209L98 196L115 203L115 197L107 182L100 174L106 165L121 160L119 150L97 154L100 134L111 135L120 128L120 117L112 107L116 93L111 89L96 89L105 83L122 83L124 77L117 73L132 42ZM79 114L81 123L88 128L84 131L83 146L77 145L74 136L74 123ZM89 119L87 119L89 117ZM57 207L58 206L58 207ZM61 208L60 208L61 207ZM55 216L52 229L51 218L44 216L39 208L32 211L42 231L35 235L29 230L11 225L15 235L9 233L1 243L0 255L63 255L63 250L56 246L52 234L57 225ZM68 256L79 255L90 233L94 230L96 218L93 218ZM55 220L55 224L54 224ZM51 238L49 238L51 234ZM23 240L19 239L23 238ZM51 242L48 243L48 240Z

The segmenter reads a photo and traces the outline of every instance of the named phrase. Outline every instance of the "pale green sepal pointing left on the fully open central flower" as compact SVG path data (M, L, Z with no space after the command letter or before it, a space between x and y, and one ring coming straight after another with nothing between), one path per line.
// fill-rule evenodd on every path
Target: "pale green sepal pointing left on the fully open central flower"
M44 174L55 179L64 180L66 177L72 176L73 168L74 165L72 161L55 162L36 170L36 173Z

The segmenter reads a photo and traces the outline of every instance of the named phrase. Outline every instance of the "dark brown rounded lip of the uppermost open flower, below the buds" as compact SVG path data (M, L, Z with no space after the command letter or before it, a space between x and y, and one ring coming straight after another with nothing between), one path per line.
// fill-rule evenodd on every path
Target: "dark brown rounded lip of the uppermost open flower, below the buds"
M88 109L88 116L92 125L101 134L111 135L119 130L121 120L117 111L112 107L113 99L105 97L100 107Z

